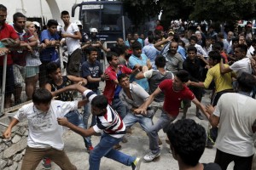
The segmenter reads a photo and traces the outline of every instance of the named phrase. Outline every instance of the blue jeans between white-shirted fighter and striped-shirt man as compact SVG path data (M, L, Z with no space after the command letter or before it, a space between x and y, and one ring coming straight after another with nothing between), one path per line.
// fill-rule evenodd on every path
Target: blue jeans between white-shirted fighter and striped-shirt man
M80 115L79 111L69 111L67 113L67 115L65 115L67 117L68 122L73 123L74 125L78 126L78 127L82 127L85 128L84 126L84 122L83 122L83 117ZM84 139L84 144L85 147L88 148L90 147L91 141L90 141L90 136L89 137L83 137Z

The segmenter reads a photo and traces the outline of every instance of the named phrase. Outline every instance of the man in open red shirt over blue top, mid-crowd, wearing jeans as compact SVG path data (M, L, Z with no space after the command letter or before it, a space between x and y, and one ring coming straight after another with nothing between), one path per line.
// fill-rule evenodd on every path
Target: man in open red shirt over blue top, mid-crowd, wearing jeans
M119 99L119 92L122 88L119 86L117 77L122 73L130 75L133 72L136 72L137 69L132 71L125 65L119 65L119 56L113 52L107 53L107 60L109 66L106 69L105 74L108 75L109 79L106 80L106 86L104 88L103 94L107 97L108 104L112 105L112 108L116 110L119 113L119 116L121 116L123 119L126 115L126 107Z

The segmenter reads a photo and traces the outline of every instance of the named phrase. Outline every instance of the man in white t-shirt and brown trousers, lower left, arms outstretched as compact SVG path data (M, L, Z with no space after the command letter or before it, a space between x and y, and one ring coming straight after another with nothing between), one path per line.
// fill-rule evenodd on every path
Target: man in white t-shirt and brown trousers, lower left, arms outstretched
M68 86L69 90L75 89L75 85ZM11 137L12 127L22 121L28 120L28 138L25 156L21 170L34 170L38 163L45 157L49 157L61 169L76 170L63 150L63 127L58 125L57 117L65 116L69 111L75 111L85 105L87 100L63 102L52 100L51 93L45 88L38 88L32 94L32 103L23 105L14 116L9 127L3 133L3 138Z

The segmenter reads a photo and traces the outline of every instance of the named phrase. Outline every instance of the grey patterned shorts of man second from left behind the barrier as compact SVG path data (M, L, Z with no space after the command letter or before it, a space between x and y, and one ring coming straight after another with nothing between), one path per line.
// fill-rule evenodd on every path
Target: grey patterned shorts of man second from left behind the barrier
M22 87L26 75L26 66L13 65L14 76L15 76L15 86Z

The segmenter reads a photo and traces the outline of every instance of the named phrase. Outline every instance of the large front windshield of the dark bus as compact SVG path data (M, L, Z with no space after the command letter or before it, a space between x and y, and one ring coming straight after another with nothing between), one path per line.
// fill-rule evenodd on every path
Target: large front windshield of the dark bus
M84 31L96 28L100 32L121 31L122 16L121 4L83 4L81 7L81 19Z

